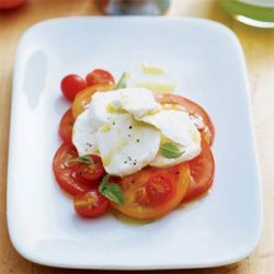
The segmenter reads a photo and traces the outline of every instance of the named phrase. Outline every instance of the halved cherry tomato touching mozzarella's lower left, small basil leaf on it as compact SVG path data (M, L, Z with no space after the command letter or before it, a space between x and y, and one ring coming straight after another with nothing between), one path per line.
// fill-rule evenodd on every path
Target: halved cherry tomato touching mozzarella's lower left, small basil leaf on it
M91 182L102 179L102 176L105 174L105 171L101 158L95 155L90 155L87 157L91 159L92 163L83 163L80 165L81 176Z

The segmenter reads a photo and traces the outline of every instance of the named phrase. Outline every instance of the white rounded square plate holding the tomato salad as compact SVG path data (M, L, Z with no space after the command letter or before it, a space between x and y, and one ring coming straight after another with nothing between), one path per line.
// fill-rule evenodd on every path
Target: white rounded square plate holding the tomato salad
M52 160L68 107L60 79L142 60L170 68L216 127L209 195L145 226L83 220L55 183ZM243 54L225 26L196 19L72 18L39 23L19 45L8 178L11 240L24 258L79 269L149 270L233 263L258 244L261 189Z

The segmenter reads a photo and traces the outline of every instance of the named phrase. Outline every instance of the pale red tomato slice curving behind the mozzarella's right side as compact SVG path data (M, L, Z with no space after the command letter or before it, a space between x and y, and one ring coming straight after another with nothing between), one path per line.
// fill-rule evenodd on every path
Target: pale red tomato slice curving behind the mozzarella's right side
M215 129L209 115L206 111L193 101L174 94L157 94L156 99L161 104L175 104L185 109L190 113L191 118L199 130L203 140L207 145L214 141Z

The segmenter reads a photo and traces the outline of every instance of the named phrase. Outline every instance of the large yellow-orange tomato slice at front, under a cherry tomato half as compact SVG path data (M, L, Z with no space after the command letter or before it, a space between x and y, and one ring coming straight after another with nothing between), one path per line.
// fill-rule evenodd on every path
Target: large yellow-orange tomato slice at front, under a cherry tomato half
M167 172L175 181L175 193L164 204L155 206L149 202L146 193L146 184L156 172ZM183 199L190 184L190 168L187 163L181 163L167 169L145 168L133 175L117 179L117 184L124 193L124 205L111 203L111 206L119 213L136 219L153 220L174 209Z

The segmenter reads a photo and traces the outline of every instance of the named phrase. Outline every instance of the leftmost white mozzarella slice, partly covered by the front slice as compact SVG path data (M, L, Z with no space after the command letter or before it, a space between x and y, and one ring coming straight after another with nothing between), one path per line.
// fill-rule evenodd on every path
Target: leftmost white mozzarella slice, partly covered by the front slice
M98 155L95 132L88 110L76 119L72 130L72 144L77 148L79 156Z

